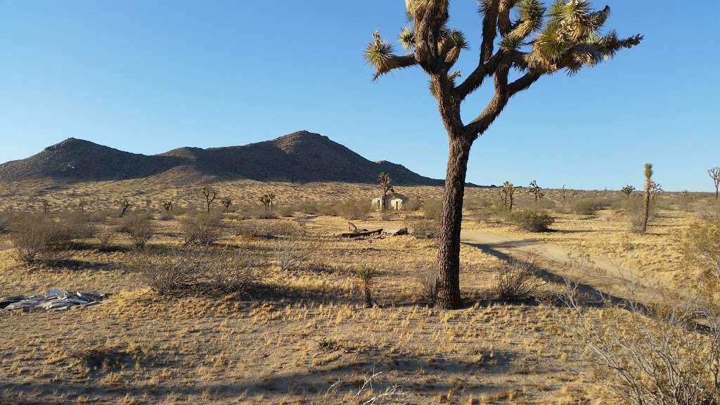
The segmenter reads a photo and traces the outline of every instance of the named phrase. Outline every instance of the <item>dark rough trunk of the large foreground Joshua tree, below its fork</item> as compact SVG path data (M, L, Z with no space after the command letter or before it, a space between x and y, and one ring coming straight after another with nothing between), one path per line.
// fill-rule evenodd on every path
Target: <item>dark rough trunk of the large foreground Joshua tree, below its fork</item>
M463 137L454 138L450 142L440 223L440 249L438 251L436 304L439 308L459 308L462 305L460 298L460 230L470 146L472 143Z

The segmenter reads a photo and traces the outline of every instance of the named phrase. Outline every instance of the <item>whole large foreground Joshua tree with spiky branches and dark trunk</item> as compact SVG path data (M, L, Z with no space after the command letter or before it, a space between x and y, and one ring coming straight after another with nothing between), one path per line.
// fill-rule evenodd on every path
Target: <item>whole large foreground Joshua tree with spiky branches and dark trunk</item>
M642 35L619 38L612 31L603 35L600 30L610 9L594 12L586 0L556 1L549 14L539 0L482 0L480 58L458 84L461 72L452 68L469 43L462 32L447 26L449 0L405 0L405 4L412 27L400 32L400 43L407 54L395 55L393 45L375 32L365 58L375 68L374 79L411 66L420 66L430 78L431 94L449 138L438 249L438 307L459 308L462 201L472 143L490 128L511 97L541 76L563 69L575 74L583 66L595 66L622 48L638 45ZM513 9L518 10L517 19L512 18ZM511 80L513 70L521 74ZM477 117L463 123L462 102L490 77L495 94Z

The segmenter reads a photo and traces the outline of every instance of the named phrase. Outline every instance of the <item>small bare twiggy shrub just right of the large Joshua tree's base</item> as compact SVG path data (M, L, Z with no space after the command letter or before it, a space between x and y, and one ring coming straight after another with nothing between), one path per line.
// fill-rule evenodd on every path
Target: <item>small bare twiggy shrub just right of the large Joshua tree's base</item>
M523 301L546 285L538 275L533 259L519 261L510 259L495 270L495 295L500 300Z

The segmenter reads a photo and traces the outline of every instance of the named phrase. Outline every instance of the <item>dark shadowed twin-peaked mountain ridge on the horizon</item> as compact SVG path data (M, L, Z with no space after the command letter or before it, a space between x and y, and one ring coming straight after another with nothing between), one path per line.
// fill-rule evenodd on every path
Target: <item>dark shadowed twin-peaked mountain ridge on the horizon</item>
M267 182L377 182L390 173L397 184L441 185L399 164L373 162L330 141L301 131L273 141L225 148L178 148L146 156L75 138L27 159L0 165L0 181L54 179L63 182L125 180L173 174L184 181L253 179Z

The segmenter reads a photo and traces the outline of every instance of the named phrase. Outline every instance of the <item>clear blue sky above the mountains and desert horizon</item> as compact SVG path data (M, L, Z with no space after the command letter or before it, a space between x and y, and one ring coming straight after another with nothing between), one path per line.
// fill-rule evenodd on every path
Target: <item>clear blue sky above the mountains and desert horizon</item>
M711 190L720 166L720 14L704 1L594 1L638 48L518 94L473 147L468 181L618 189L655 166L666 190ZM361 4L361 5L359 5ZM477 61L474 0L451 2ZM447 138L418 69L371 81L362 52L405 25L401 0L0 0L0 161L68 137L136 153L295 130L442 178ZM399 48L399 47L398 47ZM464 104L472 117L490 97Z

